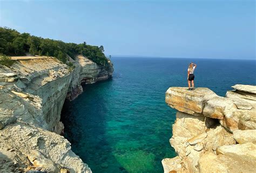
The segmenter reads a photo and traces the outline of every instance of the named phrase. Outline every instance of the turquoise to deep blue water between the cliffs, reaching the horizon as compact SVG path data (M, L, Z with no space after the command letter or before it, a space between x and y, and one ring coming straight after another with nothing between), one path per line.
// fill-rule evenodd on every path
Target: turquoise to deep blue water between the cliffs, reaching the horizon
M186 86L191 59L113 57L111 80L85 85L66 102L62 121L72 150L93 172L163 172L176 111L165 104L170 86ZM255 61L195 59L196 86L225 96L230 86L256 84Z

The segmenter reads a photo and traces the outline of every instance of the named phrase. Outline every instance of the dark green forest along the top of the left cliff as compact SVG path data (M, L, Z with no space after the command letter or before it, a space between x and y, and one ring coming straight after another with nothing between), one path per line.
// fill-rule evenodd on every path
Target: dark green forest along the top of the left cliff
M91 46L86 42L75 44L44 39L29 33L19 33L8 27L0 27L0 54L3 55L21 56L29 53L30 55L54 56L66 63L67 55L75 59L76 55L82 54L98 65L107 67L107 57L103 52L103 46Z

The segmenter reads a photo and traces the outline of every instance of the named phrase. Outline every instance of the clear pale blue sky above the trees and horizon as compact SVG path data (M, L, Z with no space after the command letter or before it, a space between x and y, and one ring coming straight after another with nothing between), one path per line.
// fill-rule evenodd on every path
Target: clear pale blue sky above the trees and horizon
M106 54L256 59L255 1L3 1L0 25Z

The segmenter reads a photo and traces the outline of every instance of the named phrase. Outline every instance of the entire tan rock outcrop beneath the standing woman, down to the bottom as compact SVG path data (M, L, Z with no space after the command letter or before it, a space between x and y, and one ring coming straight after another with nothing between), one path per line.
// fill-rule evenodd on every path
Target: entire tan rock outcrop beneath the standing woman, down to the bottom
M226 97L207 88L172 87L166 103L177 109L171 146L178 156L165 172L254 172L256 86L234 85Z

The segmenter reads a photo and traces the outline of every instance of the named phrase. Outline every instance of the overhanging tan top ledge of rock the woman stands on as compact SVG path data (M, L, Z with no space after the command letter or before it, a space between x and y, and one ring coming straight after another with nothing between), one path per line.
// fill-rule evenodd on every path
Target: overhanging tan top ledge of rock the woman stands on
M256 94L240 90L228 91L227 97L220 97L207 88L191 92L173 87L166 91L165 100L180 112L219 119L221 125L233 132L235 129L256 128L255 98Z

